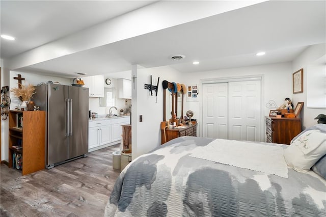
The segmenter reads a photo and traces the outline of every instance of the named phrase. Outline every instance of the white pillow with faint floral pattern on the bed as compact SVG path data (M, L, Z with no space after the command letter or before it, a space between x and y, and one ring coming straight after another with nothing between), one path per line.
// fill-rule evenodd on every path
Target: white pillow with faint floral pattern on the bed
M320 130L304 132L284 150L287 165L298 172L308 172L326 154L326 134Z

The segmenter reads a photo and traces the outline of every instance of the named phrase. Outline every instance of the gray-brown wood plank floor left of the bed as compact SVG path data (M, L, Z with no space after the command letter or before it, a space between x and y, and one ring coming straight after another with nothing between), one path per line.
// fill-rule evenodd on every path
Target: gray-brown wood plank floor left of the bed
M103 216L120 170L115 145L25 176L1 165L0 216Z

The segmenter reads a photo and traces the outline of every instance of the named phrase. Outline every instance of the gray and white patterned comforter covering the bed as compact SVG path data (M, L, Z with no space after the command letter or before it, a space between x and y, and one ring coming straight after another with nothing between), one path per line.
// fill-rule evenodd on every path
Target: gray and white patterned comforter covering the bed
M105 216L326 216L326 181L313 171L282 178L189 156L211 141L180 137L133 160Z

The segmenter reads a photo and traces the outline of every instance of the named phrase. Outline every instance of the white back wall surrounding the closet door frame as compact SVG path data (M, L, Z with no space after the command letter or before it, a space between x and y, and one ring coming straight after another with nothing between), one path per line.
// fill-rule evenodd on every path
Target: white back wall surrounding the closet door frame
M269 100L274 100L280 106L286 97L291 97L292 93L292 66L291 63L268 64L242 68L220 69L206 72L195 72L178 78L179 83L187 85L198 85L198 102L188 102L185 100L184 112L192 110L194 118L198 121L198 132L201 133L201 79L208 78L235 78L252 75L262 75L262 107L263 116L268 116L270 108L266 107ZM294 101L294 104L296 101ZM262 118L263 118L262 116Z

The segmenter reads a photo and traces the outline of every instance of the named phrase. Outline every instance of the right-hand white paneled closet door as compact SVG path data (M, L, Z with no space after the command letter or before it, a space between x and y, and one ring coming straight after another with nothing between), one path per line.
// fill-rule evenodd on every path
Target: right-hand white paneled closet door
M260 80L229 82L229 138L260 142Z

